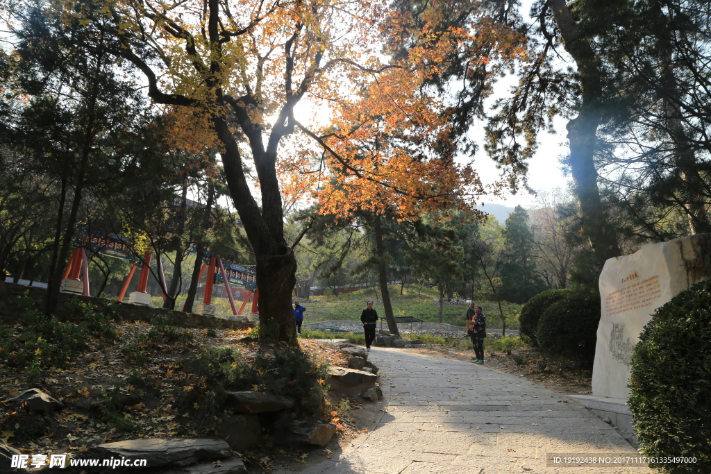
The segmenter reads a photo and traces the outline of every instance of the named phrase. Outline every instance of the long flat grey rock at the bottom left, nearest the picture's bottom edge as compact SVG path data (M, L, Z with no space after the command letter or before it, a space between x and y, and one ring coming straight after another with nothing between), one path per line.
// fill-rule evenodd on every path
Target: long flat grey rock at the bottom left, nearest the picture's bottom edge
M100 459L145 459L145 468L149 469L169 465L186 466L201 459L224 459L232 455L227 441L208 438L132 439L100 444L88 453L89 457Z

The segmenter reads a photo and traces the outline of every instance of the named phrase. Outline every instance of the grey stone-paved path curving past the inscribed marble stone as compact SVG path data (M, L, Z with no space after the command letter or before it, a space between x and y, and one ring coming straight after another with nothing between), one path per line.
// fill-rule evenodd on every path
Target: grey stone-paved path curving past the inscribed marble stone
M638 453L583 406L523 378L397 349L373 348L369 358L380 367L385 394L377 425L351 448L301 473L655 472L643 466L547 467L547 453Z

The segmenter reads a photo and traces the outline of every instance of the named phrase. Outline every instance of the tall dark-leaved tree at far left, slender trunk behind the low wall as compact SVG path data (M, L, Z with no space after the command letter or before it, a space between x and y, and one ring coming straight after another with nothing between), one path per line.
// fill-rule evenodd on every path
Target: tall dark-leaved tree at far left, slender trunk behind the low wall
M50 315L70 247L77 243L82 200L92 187L116 176L122 157L107 150L120 147L122 134L133 134L146 113L139 92L119 75L121 64L108 52L112 38L87 31L78 18L59 18L41 4L25 7L11 11L17 21L16 66L8 87L21 90L28 104L15 117L5 117L5 136L14 136L12 146L31 156L31 173L53 181L48 185L58 190L46 302Z

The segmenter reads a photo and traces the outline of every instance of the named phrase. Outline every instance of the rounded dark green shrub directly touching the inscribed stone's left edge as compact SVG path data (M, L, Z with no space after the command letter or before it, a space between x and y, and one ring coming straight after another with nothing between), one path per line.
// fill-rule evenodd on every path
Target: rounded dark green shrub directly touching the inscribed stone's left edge
M599 296L567 293L540 316L538 345L552 355L565 355L592 367L599 321Z

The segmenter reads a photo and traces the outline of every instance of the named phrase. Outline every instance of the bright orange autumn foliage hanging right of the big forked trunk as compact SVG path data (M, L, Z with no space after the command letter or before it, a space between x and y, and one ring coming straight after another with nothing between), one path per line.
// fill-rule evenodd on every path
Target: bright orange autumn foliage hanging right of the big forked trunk
M383 41L387 30L405 31L405 23L407 18L387 17ZM321 149L302 149L282 163L287 200L311 195L321 213L336 217L387 210L407 219L466 208L485 193L476 171L455 161L447 104L424 84L458 57L466 57L471 70L496 60L486 68L488 82L507 62L525 57L523 39L491 18L444 33L428 28L417 33L420 45L407 50L405 59L370 63L370 70L356 68L360 75L350 75L351 95L331 101L335 119L314 131Z

